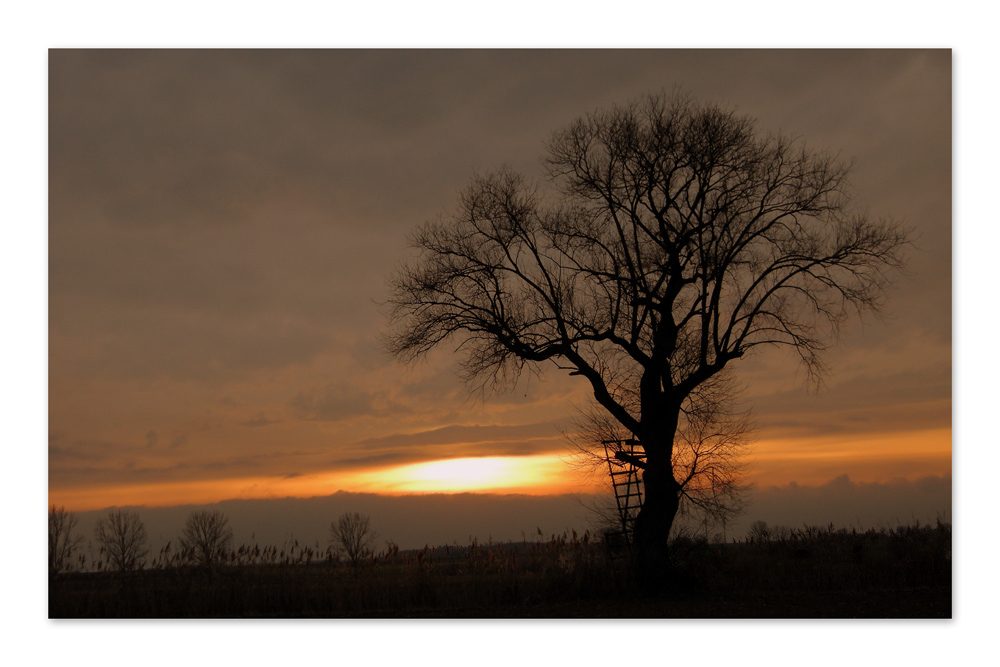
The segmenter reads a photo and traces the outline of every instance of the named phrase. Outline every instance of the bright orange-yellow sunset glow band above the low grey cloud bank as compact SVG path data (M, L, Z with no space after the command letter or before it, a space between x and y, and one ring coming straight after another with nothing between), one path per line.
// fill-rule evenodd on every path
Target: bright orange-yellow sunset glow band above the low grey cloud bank
M848 474L859 482L915 481L951 474L951 430L930 429L844 439L768 439L751 453L747 482L820 485ZM150 484L52 487L49 502L74 511L112 505L162 507L229 498L309 498L348 491L413 493L594 493L601 480L580 474L567 454L440 459L363 470L328 470L291 477L241 477Z

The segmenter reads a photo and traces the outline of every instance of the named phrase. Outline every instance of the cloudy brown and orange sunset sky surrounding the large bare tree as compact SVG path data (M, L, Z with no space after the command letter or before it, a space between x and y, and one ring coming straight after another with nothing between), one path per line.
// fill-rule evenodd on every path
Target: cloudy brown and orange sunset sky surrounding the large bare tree
M951 73L948 50L51 50L49 502L601 493L567 463L579 378L469 392L451 347L391 360L380 304L475 173L540 177L552 132L680 86L853 159L855 204L914 231L819 389L784 351L739 367L748 481L937 480L947 517ZM849 523L841 500L794 518Z

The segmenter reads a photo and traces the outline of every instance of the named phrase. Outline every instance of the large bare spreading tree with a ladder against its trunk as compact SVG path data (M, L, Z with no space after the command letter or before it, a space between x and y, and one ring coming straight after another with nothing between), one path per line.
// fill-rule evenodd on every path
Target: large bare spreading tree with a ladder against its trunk
M390 280L388 349L410 361L455 338L484 388L546 365L588 382L642 451L635 538L655 576L700 388L770 346L818 380L841 325L880 310L908 232L851 206L849 165L681 94L578 119L545 163L542 183L475 177L419 229L420 258Z

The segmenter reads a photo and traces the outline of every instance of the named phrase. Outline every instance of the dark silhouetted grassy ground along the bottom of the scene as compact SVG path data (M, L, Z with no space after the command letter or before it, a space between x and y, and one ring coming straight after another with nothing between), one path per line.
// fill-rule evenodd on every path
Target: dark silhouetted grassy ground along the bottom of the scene
M249 553L254 553L249 550ZM587 538L392 554L358 566L233 558L67 573L51 618L950 618L951 528L780 531L674 544L651 593Z

